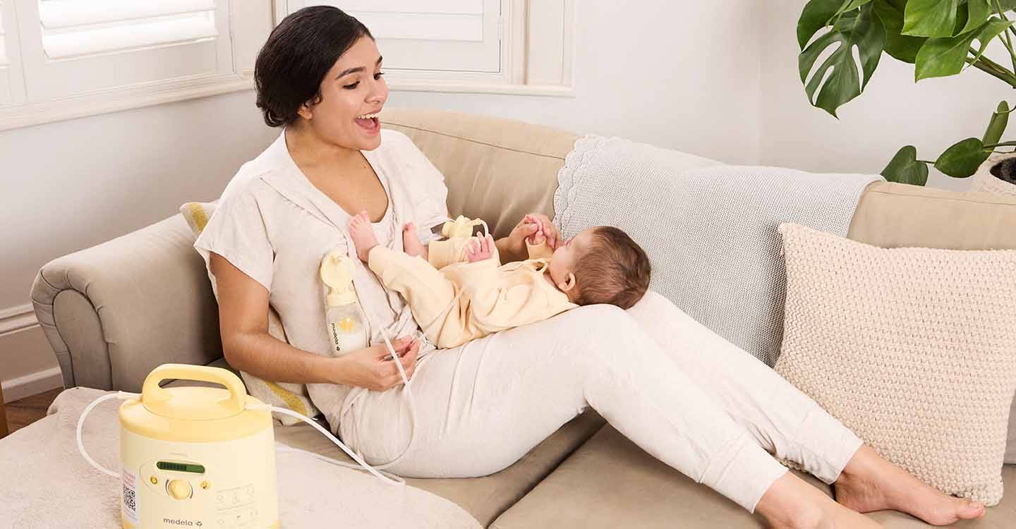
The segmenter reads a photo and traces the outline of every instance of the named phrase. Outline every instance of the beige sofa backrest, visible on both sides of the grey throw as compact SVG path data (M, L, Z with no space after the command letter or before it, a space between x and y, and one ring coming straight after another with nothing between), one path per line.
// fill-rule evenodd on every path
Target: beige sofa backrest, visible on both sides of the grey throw
M495 237L537 211L554 218L558 171L578 134L514 120L438 110L385 109L445 176L448 212L483 218ZM1016 248L1016 198L876 182L847 237L895 248Z

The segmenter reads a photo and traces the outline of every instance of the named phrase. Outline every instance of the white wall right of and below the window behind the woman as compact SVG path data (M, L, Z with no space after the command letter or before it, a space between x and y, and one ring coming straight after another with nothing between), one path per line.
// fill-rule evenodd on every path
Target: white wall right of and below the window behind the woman
M753 163L766 1L579 1L575 97L392 92L389 105L501 116Z

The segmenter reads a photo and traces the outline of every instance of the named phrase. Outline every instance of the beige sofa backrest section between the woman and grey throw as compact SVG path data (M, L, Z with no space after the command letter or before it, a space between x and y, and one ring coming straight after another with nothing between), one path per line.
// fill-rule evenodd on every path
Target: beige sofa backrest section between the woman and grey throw
M483 218L495 238L530 212L554 218L558 171L577 134L514 120L447 111L385 109L445 176L448 213Z

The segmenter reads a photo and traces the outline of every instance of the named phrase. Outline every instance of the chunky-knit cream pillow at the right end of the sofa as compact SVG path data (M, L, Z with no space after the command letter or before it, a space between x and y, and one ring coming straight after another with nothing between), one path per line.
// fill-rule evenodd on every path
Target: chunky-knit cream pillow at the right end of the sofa
M782 223L774 369L944 492L1002 499L1016 389L1016 250L883 249Z

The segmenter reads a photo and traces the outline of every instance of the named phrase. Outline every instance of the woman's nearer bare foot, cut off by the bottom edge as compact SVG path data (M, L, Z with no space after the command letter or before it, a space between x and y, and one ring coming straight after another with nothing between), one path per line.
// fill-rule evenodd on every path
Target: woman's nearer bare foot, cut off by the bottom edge
M787 472L762 494L755 513L773 529L875 529L882 527Z

